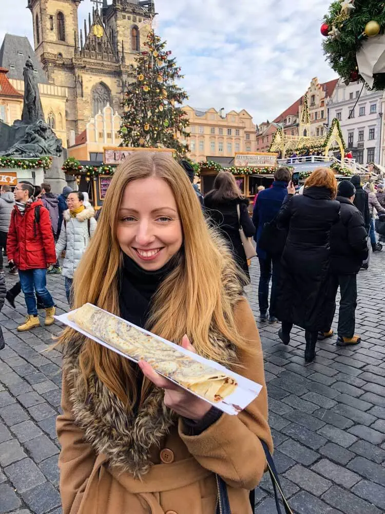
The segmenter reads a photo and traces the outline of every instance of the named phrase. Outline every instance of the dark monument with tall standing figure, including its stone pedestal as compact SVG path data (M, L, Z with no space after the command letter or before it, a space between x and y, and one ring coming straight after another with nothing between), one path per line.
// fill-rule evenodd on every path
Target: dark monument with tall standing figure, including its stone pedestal
M45 172L52 191L61 193L67 185L63 166L62 140L58 139L52 128L44 120L44 113L33 63L27 59L24 67L24 103L22 120L12 126L0 121L0 156L38 158L51 156L52 168ZM41 173L36 174L41 178ZM43 175L44 176L44 175ZM39 185L37 182L36 185Z

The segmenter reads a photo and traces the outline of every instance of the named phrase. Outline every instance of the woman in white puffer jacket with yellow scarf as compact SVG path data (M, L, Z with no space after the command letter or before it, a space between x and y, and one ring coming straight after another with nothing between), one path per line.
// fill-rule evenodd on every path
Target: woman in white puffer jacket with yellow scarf
M70 307L73 303L71 293L73 274L97 227L97 221L93 217L95 214L93 207L89 203L85 207L83 203L83 193L73 191L68 195L68 209L63 213L62 230L56 243L56 258L63 250L66 251L62 274L65 277L66 296Z

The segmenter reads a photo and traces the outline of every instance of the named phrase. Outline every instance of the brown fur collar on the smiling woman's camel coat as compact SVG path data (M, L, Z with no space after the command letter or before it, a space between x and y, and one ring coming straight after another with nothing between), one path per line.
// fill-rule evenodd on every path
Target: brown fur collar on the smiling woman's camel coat
M223 282L232 304L238 303L242 287L226 269ZM235 360L233 345L212 325L210 339L222 348L223 362ZM79 369L79 352L84 338L79 336L64 348L63 370L69 382L72 414L76 425L82 428L85 439L97 454L107 457L108 465L120 472L129 472L140 479L152 465L150 453L160 448L177 417L163 402L163 391L153 389L136 417L127 416L123 403L95 375L89 378L86 401L85 388ZM221 359L222 360L222 359Z

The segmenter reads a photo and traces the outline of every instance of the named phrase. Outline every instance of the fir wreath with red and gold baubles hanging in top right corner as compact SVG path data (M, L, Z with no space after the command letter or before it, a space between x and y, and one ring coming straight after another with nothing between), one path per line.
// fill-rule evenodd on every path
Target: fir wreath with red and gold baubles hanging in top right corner
M321 33L326 59L349 82L365 82L369 88L385 88L385 2L340 0L324 17Z

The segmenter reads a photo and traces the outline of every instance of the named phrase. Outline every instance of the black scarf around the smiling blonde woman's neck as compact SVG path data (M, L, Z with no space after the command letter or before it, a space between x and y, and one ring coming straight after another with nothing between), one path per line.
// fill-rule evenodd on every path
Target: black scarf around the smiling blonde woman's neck
M119 308L123 319L144 328L153 294L167 275L177 267L180 258L181 252L178 252L163 268L146 271L123 253L119 288Z

